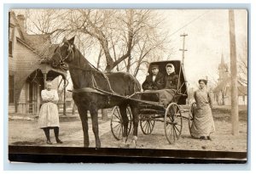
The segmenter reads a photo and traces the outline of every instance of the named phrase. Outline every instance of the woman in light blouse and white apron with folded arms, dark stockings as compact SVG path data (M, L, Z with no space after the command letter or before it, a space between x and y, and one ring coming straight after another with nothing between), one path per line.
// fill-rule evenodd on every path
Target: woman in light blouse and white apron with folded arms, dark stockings
M52 144L49 138L49 129L54 129L56 143L62 143L59 139L59 112L57 102L59 100L56 90L51 89L51 82L47 82L46 89L42 90L41 96L43 105L41 106L38 124L44 130L47 138L46 143Z

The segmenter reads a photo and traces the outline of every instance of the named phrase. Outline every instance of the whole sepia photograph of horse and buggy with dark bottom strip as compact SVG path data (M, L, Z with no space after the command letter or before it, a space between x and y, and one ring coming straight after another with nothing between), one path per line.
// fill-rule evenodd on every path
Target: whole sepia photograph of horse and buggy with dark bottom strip
M248 15L9 9L9 160L247 163Z

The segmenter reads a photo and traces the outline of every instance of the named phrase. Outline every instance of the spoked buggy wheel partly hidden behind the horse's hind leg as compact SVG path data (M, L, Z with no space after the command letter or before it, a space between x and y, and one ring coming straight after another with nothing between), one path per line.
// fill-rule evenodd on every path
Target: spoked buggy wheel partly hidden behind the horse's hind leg
M132 118L130 107L127 107L126 113L129 120L128 129L127 129L127 137L128 137L131 132L131 118ZM117 140L120 140L123 137L124 124L123 124L123 120L122 120L118 106L115 106L112 110L110 126L111 126L111 132L113 134L113 137Z

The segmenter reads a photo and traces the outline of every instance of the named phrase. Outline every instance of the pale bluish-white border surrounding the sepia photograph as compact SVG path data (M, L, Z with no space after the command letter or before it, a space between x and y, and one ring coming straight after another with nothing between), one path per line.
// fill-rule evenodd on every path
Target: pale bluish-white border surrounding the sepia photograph
M253 31L256 31L255 29L255 19L253 18L253 16L255 16L255 1L249 1L249 0L233 0L233 1L228 1L228 0L214 0L214 1L189 1L189 0L180 0L180 1L168 1L168 0L158 0L158 1L147 1L147 4L142 4L143 1L142 0L130 0L130 1L113 1L113 0L110 0L108 1L108 3L106 1L103 1L103 0L93 0L93 1L88 1L88 0L73 0L73 1L67 1L67 0L62 0L60 1L61 4L56 4L57 2L52 2L52 0L44 0L44 1L32 1L32 0L26 0L26 1L18 1L18 0L13 0L13 1L7 1L7 0L3 0L2 1L2 5L1 5L1 12L4 12L4 8L3 8L3 4L4 3L19 3L19 4L13 4L15 6L24 6L24 7L31 7L32 6L37 6L38 5L42 5L43 6L48 6L48 7L51 7L51 6L55 6L55 7L58 7L59 5L63 5L63 3L73 3L74 6L75 3L90 3L90 5L95 5L95 7L98 7L99 5L101 7L112 7L112 6L116 6L118 5L119 8L122 8L123 5L130 5L131 3L134 3L134 4L137 4L138 6L151 6L152 8L154 8L155 6L159 6L160 3L176 3L176 4L173 4L173 8L175 8L175 6L177 5L177 3L179 5L181 5L181 3L184 3L182 6L183 8L195 8L195 7L198 7L198 8L201 8L201 5L205 6L206 4L211 4L211 6L215 6L215 7L219 7L221 6L222 4L225 6L225 4L228 4L228 3L233 3L232 5L234 5L235 7L239 7L239 3L250 3L251 4L251 19L249 17L249 20L251 20L251 36L249 36L249 41L250 41L250 38L256 38L255 37L255 34ZM22 4L21 4L22 3ZM34 4L27 4L27 3L34 3ZM45 3L49 3L49 4L45 4ZM51 3L51 4L50 4ZM59 3L59 2L58 2ZM100 3L100 4L96 4L96 3ZM102 4L103 3L103 4ZM110 4L110 3L115 3L115 4ZM123 3L123 4L117 4L117 3ZM151 3L151 4L148 4L148 3ZM189 4L188 4L189 3ZM201 4L203 3L203 4ZM163 8L166 8L166 6L164 4L163 5ZM116 6L117 7L117 6ZM71 8L70 7L70 4L68 5L67 8ZM203 8L203 7L202 7ZM3 13L1 13L1 15L3 15ZM3 25L3 16L1 16L1 25ZM6 36L6 34L8 33L5 33L3 32L3 27L1 28L1 43L3 44L3 38L5 38L4 36ZM1 53L5 53L5 55L7 55L7 49L3 49L3 48L6 48L5 47L6 45L2 45L1 47ZM255 88L255 80L253 80L252 78L252 74L255 74L255 69L254 69L254 65L255 65L255 41L252 39L251 40L251 59L250 59L250 70L251 70L251 73L249 74L251 76L251 84L250 84L250 91L251 91L251 106L253 106L253 104L255 104L255 98L253 98L252 96L255 96L253 95L255 92L253 92L252 89ZM253 49L254 48L254 49ZM248 49L249 50L249 49ZM3 59L6 59L4 56L3 56ZM1 90L0 90L0 96L4 96L5 98L3 98L3 101L2 101L2 104L0 104L0 109L2 111L6 110L5 108L3 108L3 104L4 102L7 102L7 89L6 87L8 87L8 81L3 81L3 70L5 70L4 68L8 67L8 64L6 65L6 62L3 62L3 59L0 59L0 65L2 65L2 71L1 71L1 82L0 82L0 87L1 87ZM7 58L8 59L8 58ZM4 64L5 63L5 64ZM5 87L5 88L3 88ZM4 91L3 91L4 89ZM4 92L4 93L3 93ZM6 93L7 92L7 93ZM5 95L3 95L5 94ZM249 123L249 125L251 125L251 132L255 132L254 131L254 125L255 125L255 111L251 110L251 113L249 113L251 115L251 121ZM3 115L4 117L4 115ZM8 124L7 122L4 122L2 120L2 126L3 127L7 127L6 124ZM3 170L65 170L65 171L69 171L69 170L72 170L72 171L76 171L76 170L138 170L138 171L141 171L141 170L146 170L148 172L148 170L185 170L185 171L196 171L196 170L228 170L228 171L232 171L232 173L234 172L233 170L250 170L250 167L251 167L251 172L252 171L255 171L255 165L253 164L256 164L255 163L255 151L253 148L250 149L249 152L249 158L248 161L250 164L247 164L247 165L142 165L142 164L139 164L139 165L127 165L127 164L119 164L119 165L97 165L97 164L94 164L94 165L91 165L91 164L84 164L84 165L79 165L79 164L73 164L73 165L63 165L63 164L59 164L59 165L46 165L46 164L12 164L10 165L9 162L8 162L8 156L7 156L7 148L6 147L3 147L4 144L6 144L6 142L8 141L8 138L7 138L7 134L6 134L6 130L5 130L5 133L3 134L3 129L1 129L1 132L0 132L0 135L1 135L1 139L3 140L1 143L1 151L0 151L0 154L4 154L2 155L3 156L3 165L4 165L4 168L1 167ZM255 135L254 133L252 133L253 135ZM3 138L2 138L3 136ZM253 138L253 136L251 136L251 147L256 147L255 146L255 138ZM1 164L1 166L2 166ZM250 166L252 165L252 166ZM241 166L241 167L239 167ZM245 167L247 166L247 167ZM27 171L26 171L27 172ZM45 172L45 171L44 171ZM49 172L49 171L47 171ZM132 172L132 171L131 171ZM170 172L170 171L169 171ZM172 171L172 172L177 172L177 171ZM208 172L208 171L207 171ZM224 171L226 173L226 171ZM20 173L20 172L19 172ZM196 172L197 173L197 172Z

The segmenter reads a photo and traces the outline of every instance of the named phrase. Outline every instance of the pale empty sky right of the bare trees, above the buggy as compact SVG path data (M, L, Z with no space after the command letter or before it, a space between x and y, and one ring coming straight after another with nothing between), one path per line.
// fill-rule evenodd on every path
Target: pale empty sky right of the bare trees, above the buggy
M185 37L184 70L191 86L198 79L208 77L209 81L218 79L218 64L221 55L225 63L230 65L230 31L229 10L227 9L193 9L164 10L167 16L166 27L174 32L172 39L178 50L183 47ZM242 53L247 42L247 11L235 10L236 52ZM171 32L172 33L172 32ZM176 53L177 59L182 52Z

